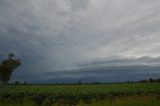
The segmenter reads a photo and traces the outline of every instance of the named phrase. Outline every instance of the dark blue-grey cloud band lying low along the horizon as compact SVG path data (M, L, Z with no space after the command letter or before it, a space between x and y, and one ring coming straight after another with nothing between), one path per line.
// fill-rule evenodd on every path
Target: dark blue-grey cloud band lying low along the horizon
M80 70L70 71L55 71L49 73L41 73L39 75L34 74L21 76L18 78L29 79L30 83L69 83L69 82L120 82L127 80L141 80L148 78L159 78L160 67L152 66L109 66L109 67L92 67L83 68ZM18 73L17 73L18 74ZM48 76L48 77L45 77ZM15 80L15 79L13 79Z

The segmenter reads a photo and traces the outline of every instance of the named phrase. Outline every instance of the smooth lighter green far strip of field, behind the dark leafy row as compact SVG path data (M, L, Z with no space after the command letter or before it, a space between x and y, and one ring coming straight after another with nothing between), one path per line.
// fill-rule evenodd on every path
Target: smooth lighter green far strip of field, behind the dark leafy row
M160 83L99 84L99 85L6 85L0 94L16 93L108 93L108 92L160 92Z

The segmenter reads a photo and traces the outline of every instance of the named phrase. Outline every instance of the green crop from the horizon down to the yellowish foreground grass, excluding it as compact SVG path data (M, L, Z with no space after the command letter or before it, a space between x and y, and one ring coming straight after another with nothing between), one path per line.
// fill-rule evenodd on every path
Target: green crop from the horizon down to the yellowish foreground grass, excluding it
M103 85L5 85L0 86L0 102L33 102L34 105L88 104L93 100L114 100L132 95L159 98L160 83L103 84Z

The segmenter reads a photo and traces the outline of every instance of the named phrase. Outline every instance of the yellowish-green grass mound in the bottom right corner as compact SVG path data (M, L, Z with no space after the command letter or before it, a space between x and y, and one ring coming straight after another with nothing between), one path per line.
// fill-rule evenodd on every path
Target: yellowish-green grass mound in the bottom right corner
M129 96L115 100L95 101L91 104L78 104L77 106L160 106L160 100L150 96Z

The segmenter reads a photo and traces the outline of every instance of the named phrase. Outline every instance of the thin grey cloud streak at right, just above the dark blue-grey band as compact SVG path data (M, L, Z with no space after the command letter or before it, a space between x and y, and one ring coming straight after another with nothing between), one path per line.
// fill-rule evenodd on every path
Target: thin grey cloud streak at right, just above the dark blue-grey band
M123 57L123 56L111 56L108 58L99 59L92 62L77 64L81 68L96 68L104 66L152 66L158 67L160 65L160 57L144 56L140 58Z

